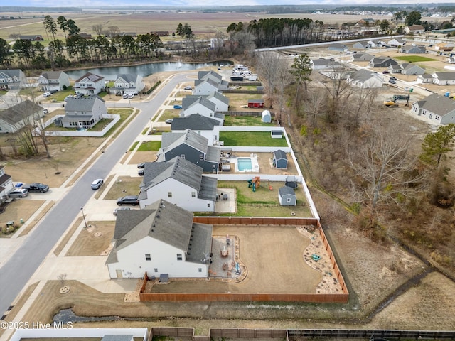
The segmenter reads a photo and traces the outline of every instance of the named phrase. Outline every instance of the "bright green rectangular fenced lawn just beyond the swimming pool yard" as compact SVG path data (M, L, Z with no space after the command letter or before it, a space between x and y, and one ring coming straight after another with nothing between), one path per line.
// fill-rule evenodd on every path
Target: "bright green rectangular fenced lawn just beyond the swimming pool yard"
M269 131L220 131L225 146L286 147L286 139L272 139Z

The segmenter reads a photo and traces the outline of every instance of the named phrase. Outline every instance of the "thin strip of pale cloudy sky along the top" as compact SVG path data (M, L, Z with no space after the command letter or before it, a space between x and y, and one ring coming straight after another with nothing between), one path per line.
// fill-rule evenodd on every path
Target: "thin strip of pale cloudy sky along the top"
M4 3L4 1L0 1ZM395 0L395 1L381 1L380 4L377 0L230 0L228 6L254 6L254 5L306 5L306 4L324 4L331 5L348 5L348 4L363 4L363 5L384 5L384 4L410 4L410 0ZM434 4L435 1L419 1L419 4ZM437 3L453 4L453 0L441 0ZM184 6L220 6L219 0L78 0L78 1L64 1L59 2L55 0L16 0L10 3L1 4L3 6L176 6L178 8Z

